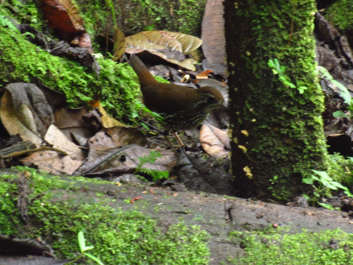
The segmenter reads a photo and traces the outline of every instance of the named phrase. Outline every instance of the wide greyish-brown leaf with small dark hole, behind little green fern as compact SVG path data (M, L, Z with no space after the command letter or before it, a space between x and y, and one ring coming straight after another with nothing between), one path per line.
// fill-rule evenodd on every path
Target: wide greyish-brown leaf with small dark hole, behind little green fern
M88 158L74 175L131 173L139 163L138 157L150 154L150 149L138 145L116 147L110 137L105 136L104 138L104 133L98 134L89 140L90 152ZM162 156L158 157L154 164L146 163L143 167L169 171L175 164L175 154L170 151L160 151L160 153Z

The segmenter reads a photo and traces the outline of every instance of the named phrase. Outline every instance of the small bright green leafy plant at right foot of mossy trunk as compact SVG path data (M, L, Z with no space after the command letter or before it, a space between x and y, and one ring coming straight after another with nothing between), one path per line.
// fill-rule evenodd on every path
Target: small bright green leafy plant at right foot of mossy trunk
M352 193L349 191L349 189L342 184L334 181L327 172L325 171L317 171L313 170L316 175L311 175L308 178L303 178L302 181L305 184L309 184L313 187L313 198L310 198L308 195L303 195L306 199L312 200L312 206L315 206L317 203L318 205L325 207L329 210L334 210L334 207L330 204L325 204L323 202L318 202L318 198L320 198L322 195L326 194L330 190L338 190L343 189L345 191L345 194L349 197L353 198ZM318 186L314 184L314 181L317 181L319 183Z

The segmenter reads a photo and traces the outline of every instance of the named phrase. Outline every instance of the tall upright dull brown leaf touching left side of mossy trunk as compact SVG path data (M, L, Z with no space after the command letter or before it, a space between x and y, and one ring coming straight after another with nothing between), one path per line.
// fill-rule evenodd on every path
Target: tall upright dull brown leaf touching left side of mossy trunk
M224 34L223 0L208 0L202 19L202 51L210 64L224 64L226 37Z

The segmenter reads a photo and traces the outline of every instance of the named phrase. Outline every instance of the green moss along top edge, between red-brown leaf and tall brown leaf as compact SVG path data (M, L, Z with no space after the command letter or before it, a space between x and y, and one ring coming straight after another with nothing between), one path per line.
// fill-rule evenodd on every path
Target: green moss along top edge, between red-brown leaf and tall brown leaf
M112 14L99 0L77 1L90 34L105 32ZM169 30L200 36L206 0L133 0L115 5L118 27L131 35L143 30ZM112 27L110 27L112 29Z

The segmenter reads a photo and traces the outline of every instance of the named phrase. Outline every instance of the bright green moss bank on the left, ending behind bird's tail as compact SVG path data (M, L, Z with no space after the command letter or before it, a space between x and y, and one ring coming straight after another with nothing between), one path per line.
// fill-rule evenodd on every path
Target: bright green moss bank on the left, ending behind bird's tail
M0 86L10 82L35 82L64 93L72 107L87 105L100 92L101 102L114 117L126 118L135 113L133 104L139 96L136 76L127 64L100 59L100 77L76 61L50 55L11 30L0 28Z

